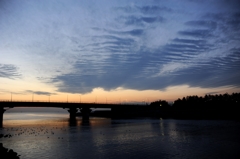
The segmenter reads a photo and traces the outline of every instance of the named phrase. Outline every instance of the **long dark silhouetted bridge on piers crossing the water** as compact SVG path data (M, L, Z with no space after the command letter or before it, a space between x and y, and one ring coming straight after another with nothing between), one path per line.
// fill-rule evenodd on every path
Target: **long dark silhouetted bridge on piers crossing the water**
M125 105L126 106L126 105ZM130 105L129 105L130 106ZM0 127L3 123L3 114L5 108L14 107L51 107L68 109L70 120L76 118L76 113L80 110L83 120L89 120L91 108L120 108L121 104L99 104L99 103L70 103L70 102L16 102L16 101L0 101Z

